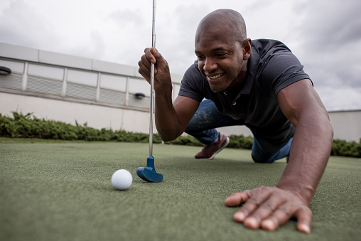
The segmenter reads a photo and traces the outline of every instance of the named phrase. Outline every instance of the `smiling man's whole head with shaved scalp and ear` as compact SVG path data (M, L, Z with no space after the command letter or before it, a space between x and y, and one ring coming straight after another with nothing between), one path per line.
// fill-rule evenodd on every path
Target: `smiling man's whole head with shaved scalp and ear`
M195 33L198 68L214 91L242 84L252 42L247 39L242 15L230 9L213 11Z

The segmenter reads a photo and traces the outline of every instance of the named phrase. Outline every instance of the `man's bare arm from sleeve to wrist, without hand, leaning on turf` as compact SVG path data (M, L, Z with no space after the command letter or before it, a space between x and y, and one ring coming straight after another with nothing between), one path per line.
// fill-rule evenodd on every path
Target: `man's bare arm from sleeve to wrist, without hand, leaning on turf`
M296 132L289 164L277 186L290 191L296 188L293 191L300 191L305 202L310 203L330 157L333 127L310 80L281 90L278 100ZM304 182L297 181L298 178Z

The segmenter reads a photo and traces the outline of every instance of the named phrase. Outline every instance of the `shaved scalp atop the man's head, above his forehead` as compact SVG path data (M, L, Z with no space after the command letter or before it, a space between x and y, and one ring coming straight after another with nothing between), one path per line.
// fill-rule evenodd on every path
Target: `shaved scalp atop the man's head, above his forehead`
M199 23L195 33L195 43L200 41L205 31L216 31L216 28L229 28L235 41L243 43L247 38L246 23L239 12L231 9L218 9L205 16Z

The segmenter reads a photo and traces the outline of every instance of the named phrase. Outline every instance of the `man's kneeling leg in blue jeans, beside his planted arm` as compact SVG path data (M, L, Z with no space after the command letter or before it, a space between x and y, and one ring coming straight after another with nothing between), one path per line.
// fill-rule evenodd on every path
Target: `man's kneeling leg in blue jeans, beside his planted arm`
M292 139L281 144L271 144L269 141L254 135L252 145L252 159L257 163L272 163L289 156Z

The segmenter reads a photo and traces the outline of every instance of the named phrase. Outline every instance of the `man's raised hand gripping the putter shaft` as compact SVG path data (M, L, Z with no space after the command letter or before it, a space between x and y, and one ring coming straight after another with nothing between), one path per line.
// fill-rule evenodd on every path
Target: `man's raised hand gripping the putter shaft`
M172 87L171 73L167 61L156 48L146 48L144 55L138 62L138 72L148 81L151 82L151 64L154 64L154 90L164 87ZM164 90L164 89L163 89Z

